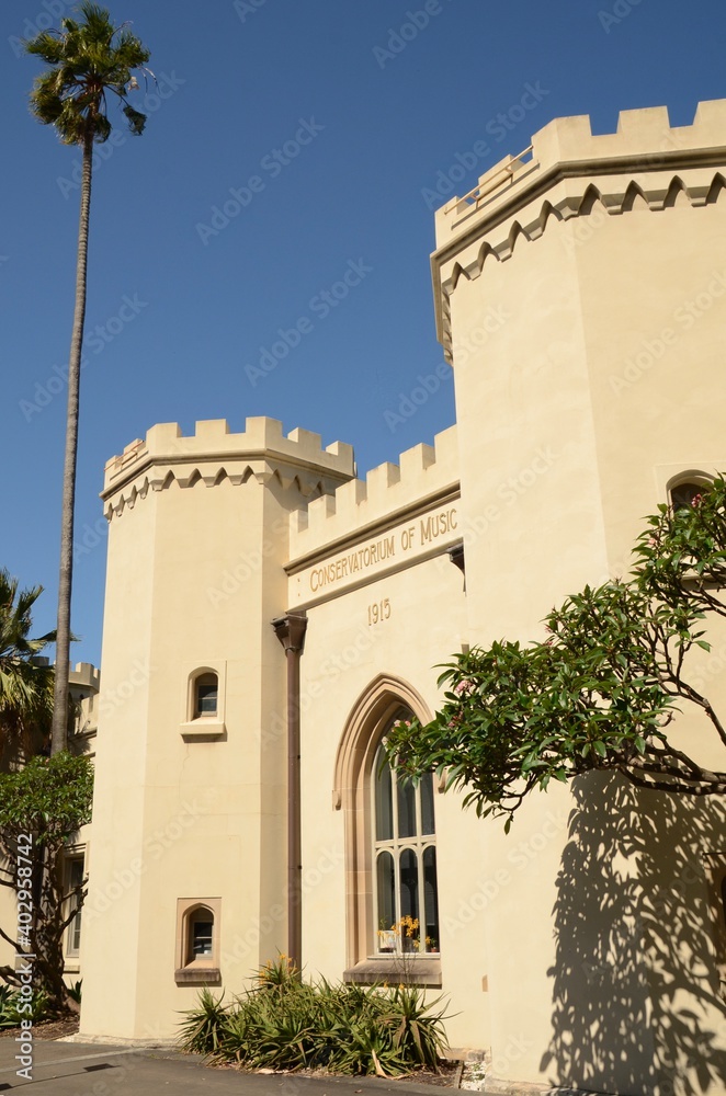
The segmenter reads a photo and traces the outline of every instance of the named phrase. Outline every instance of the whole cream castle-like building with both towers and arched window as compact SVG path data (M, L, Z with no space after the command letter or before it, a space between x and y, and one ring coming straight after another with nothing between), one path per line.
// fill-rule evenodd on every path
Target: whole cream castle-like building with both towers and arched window
M721 804L592 777L504 836L375 762L435 711L438 664L540 638L673 487L726 468L724 176L708 102L680 128L557 119L449 202L457 422L398 465L360 480L350 446L248 419L157 425L106 466L82 1037L169 1039L201 984L292 949L329 979L405 964L492 1091L726 1092ZM401 959L379 929L406 914Z

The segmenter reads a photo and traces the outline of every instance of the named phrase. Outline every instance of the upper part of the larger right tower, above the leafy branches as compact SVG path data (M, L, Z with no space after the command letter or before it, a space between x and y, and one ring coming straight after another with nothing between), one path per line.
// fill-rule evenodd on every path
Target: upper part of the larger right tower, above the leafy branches
M436 323L454 366L472 639L628 569L672 477L726 454L726 101L692 126L558 118L436 215ZM502 589L502 575L517 581Z

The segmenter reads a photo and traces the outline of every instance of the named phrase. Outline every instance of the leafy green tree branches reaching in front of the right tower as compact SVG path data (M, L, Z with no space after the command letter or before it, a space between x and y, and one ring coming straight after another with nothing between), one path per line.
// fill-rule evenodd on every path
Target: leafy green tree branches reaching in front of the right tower
M689 673L705 624L726 616L726 481L638 538L625 581L586 586L546 618L547 638L492 643L444 667L432 722L399 723L387 750L411 776L446 774L477 814L514 811L535 788L593 769L688 796L723 795L726 772L702 765L669 735L681 709L705 717L726 762L726 730ZM697 687L696 687L697 686Z

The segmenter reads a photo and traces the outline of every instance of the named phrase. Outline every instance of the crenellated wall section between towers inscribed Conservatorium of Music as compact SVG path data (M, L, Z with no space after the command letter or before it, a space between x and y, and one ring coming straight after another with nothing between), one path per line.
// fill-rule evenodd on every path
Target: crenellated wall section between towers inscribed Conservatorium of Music
M462 536L456 427L417 445L399 464L373 468L291 515L291 597L350 587L407 560L444 551Z

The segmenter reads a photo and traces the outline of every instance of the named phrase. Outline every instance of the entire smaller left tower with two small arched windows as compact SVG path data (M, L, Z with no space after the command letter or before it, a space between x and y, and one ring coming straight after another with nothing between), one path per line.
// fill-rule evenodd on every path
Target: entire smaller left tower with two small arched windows
M271 911L268 945L285 950L285 659L271 620L286 607L290 514L352 475L350 446L324 450L270 419L241 434L200 422L190 437L157 425L106 466L84 1036L173 1036L201 984L241 989Z

